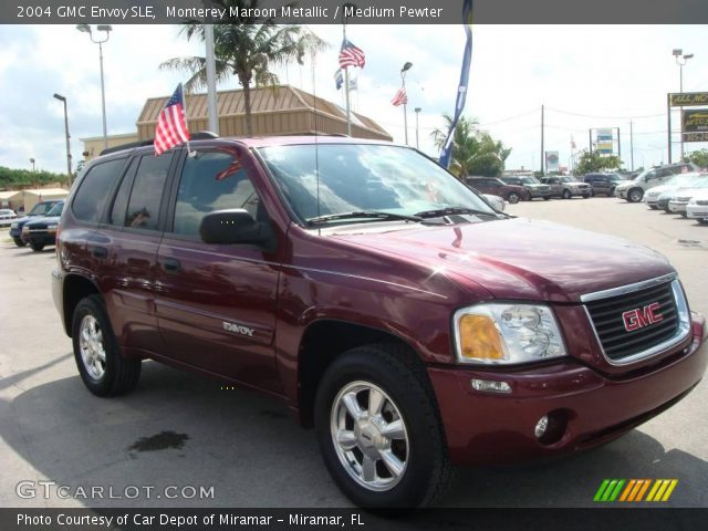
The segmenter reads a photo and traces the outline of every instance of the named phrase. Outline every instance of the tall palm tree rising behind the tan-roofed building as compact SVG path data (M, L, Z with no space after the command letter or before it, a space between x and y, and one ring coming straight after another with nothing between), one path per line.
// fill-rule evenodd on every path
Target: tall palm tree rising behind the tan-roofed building
M238 13L259 9L260 0L214 0L215 8L238 8ZM253 11L251 11L253 12ZM214 25L214 49L217 82L230 75L238 77L243 87L246 110L246 132L253 135L251 121L251 83L257 87L277 86L278 76L271 72L273 65L291 61L303 63L308 53L326 48L326 43L312 31L300 25L278 25L273 19L253 17L229 17L225 23ZM198 37L204 41L205 25L198 20L185 22L183 33L187 40ZM201 56L175 58L165 61L162 70L179 70L191 74L185 83L187 92L205 87L207 84L206 59Z

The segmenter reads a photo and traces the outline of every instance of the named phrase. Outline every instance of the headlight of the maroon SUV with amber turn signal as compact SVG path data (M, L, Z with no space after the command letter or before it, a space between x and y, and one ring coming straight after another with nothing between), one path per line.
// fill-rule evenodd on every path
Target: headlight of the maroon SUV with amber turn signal
M479 304L454 317L457 358L462 363L513 364L565 356L565 344L548 306Z

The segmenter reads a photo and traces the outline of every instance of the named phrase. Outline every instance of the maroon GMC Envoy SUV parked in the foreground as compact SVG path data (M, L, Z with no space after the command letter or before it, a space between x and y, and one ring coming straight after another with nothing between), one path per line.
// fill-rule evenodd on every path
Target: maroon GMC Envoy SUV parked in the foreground
M494 211L407 147L191 149L110 149L67 199L53 292L96 395L152 358L280 396L355 503L417 507L452 465L596 446L704 374L650 249Z

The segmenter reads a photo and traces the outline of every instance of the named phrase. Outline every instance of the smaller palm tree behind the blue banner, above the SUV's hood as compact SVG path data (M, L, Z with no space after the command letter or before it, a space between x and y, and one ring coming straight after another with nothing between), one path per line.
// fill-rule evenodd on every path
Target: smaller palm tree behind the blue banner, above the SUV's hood
M452 118L445 114L444 128L436 127L430 136L438 149L441 149L447 139ZM468 175L485 175L493 177L500 175L504 168L504 160L511 154L511 148L504 148L503 144L494 140L489 133L477 128L477 121L460 116L452 134L452 157L450 171L458 177Z

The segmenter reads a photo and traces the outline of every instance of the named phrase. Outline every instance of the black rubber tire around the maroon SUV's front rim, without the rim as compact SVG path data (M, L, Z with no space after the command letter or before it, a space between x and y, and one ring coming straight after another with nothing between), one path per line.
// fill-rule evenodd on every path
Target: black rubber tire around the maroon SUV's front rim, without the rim
M372 490L362 485L361 479L356 480L337 454L342 450L335 447L332 418L333 410L336 412L335 408L341 405L337 397L341 392L357 384L373 384L388 395L391 400L382 403L391 404L394 410L400 414L405 425L405 468L397 482L387 490ZM371 416L366 415L363 418ZM424 507L439 499L452 480L454 468L448 458L433 387L423 365L412 358L409 352L400 345L361 346L337 357L327 367L317 387L314 419L320 449L332 478L342 492L360 507ZM353 433L356 430L354 426L351 429ZM366 439L372 440L368 437ZM352 454L358 451L357 456L361 456L363 465L364 454L358 445L364 439L360 436L356 440L358 442L352 442L355 446ZM389 444L393 448L393 442ZM383 467L383 461L381 465L382 468L378 468L378 462L374 465L375 478L378 480L379 475L386 473L394 478L394 475Z

